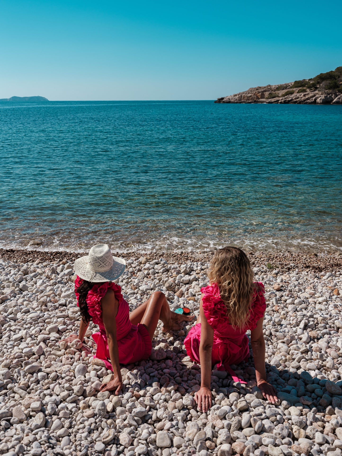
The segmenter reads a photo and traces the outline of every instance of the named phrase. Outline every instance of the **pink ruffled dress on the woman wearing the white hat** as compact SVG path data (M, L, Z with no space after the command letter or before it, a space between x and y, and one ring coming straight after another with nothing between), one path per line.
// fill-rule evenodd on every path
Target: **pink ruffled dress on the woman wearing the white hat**
M80 279L75 280L75 294L77 297L77 287L80 285ZM99 326L100 331L92 334L93 340L97 343L96 355L94 358L102 359L107 369L112 368L110 363L109 348L102 320L101 299L107 293L107 290L113 290L116 299L119 301L116 321L116 338L119 347L119 362L121 364L130 364L143 359L149 358L152 349L150 335L144 325L132 325L130 322L130 308L127 301L121 294L121 287L113 282L94 285L87 296L88 313L92 317L93 323Z

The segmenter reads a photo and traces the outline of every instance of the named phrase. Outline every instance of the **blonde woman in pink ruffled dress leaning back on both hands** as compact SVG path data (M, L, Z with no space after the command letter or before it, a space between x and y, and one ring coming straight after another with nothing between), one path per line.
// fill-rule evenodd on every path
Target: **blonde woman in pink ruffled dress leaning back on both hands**
M253 276L249 259L241 249L225 247L212 257L210 285L201 290L200 316L184 341L188 356L201 364L201 389L195 400L203 412L211 407L210 381L215 364L218 370L230 373L234 381L246 383L236 377L230 364L249 357L248 330L258 387L272 404L278 400L275 388L266 380L264 285L253 282Z

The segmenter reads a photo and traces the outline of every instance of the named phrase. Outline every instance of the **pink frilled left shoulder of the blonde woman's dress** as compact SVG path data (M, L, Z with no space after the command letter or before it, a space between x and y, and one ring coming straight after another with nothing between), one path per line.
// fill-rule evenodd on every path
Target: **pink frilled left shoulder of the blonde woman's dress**
M202 308L209 325L218 328L227 324L227 309L220 296L218 284L207 285L202 291Z

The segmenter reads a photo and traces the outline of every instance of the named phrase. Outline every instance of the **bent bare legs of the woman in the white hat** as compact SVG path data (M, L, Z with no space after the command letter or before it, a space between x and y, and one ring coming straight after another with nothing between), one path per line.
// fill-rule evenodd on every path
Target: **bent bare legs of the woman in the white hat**
M130 322L133 325L141 323L147 329L152 340L158 320L163 322L162 331L177 331L181 329L181 321L191 321L193 316L179 315L170 311L169 303L164 293L155 291L144 304L130 313Z

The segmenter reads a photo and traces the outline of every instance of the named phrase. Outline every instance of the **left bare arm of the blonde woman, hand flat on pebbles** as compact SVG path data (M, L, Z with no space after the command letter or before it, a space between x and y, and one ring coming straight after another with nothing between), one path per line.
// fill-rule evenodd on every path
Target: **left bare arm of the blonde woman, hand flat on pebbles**
M195 393L195 400L198 409L206 412L212 405L212 393L210 390L211 375L212 375L212 345L214 342L214 331L209 325L202 307L202 299L200 302L201 316L201 341L199 347L200 363L201 363L201 389Z

